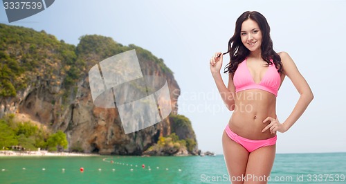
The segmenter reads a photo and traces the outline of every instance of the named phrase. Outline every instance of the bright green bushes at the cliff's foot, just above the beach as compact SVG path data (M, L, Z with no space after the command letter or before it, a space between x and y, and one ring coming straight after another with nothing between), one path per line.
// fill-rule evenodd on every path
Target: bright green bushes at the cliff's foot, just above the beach
M12 149L12 146L17 145L26 151L35 151L37 148L57 151L67 148L64 132L51 134L30 122L15 122L13 118L13 115L9 115L0 119L0 149Z

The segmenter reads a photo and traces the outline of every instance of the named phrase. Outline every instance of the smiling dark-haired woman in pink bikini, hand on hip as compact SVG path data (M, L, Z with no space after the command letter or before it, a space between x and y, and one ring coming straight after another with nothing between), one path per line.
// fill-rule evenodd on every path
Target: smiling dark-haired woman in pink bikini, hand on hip
M228 174L232 183L266 183L275 158L276 132L292 127L307 109L313 93L291 57L273 50L270 27L260 12L244 12L237 19L227 53L228 86L220 74L222 53L210 59L210 71L226 107L233 111L222 136ZM285 76L300 98L281 123L275 107Z

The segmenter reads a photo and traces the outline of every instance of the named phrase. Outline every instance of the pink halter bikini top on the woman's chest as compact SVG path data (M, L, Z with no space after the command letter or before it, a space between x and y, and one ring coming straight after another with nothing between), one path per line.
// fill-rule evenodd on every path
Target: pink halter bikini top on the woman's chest
M261 82L257 84L253 80L253 77L248 70L246 59L239 64L237 70L235 71L235 75L233 77L235 92L237 93L238 91L244 91L247 89L262 89L277 96L277 91L279 91L281 83L281 77L275 68L275 64L268 66L268 69L266 70ZM273 61L271 60L271 62Z

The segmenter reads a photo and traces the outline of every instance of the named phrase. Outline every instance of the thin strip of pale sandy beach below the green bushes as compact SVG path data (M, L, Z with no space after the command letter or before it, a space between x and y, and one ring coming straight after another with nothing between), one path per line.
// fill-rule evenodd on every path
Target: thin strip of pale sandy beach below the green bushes
M0 151L0 157L3 156L100 156L100 154L83 154L69 152L49 152L49 151Z

